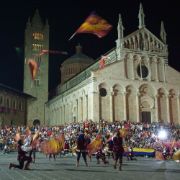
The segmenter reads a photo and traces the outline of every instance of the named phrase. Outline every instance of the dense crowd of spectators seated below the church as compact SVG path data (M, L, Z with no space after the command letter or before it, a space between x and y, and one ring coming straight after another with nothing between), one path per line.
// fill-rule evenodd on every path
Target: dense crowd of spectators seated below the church
M84 123L70 123L64 126L53 127L33 126L29 127L29 129L32 134L39 131L40 142L64 133L66 144L69 143L70 148L74 145L80 131L86 131L91 140L94 139L98 133L101 133L104 142L106 142L118 129L124 130L124 144L126 146L162 150L165 143L175 141L176 146L178 146L176 148L180 148L180 128L172 124L148 124L131 121L106 122L105 120L96 123L92 120L86 120ZM26 130L27 127L25 126L0 127L0 151L6 153L15 150L16 142L14 138L16 134L20 133L21 136L25 136ZM162 130L166 132L164 139L159 137L159 132Z

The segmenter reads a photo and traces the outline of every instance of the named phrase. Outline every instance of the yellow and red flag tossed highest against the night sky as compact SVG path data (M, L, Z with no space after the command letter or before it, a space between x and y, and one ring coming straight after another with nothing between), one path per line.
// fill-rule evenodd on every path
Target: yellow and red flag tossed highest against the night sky
M106 36L111 29L112 25L105 19L95 13L91 13L77 31L70 37L70 39L78 33L90 33L102 38Z

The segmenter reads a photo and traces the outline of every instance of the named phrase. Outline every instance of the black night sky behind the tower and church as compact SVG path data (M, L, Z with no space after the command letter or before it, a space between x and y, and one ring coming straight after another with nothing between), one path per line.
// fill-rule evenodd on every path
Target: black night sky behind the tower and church
M159 38L160 22L164 21L169 48L169 65L180 71L180 5L173 0L141 0L145 13L146 27ZM68 56L51 55L49 67L49 89L60 82L60 64L75 53L74 47L80 43L83 52L98 58L115 47L117 39L118 14L121 13L124 34L138 28L139 0L60 0L60 1L4 1L0 6L0 83L22 90L23 51L17 53L15 47L23 50L25 24L29 16L39 9L42 18L48 18L50 25L50 49L67 51ZM113 25L110 33L99 39L90 34L70 36L92 12Z

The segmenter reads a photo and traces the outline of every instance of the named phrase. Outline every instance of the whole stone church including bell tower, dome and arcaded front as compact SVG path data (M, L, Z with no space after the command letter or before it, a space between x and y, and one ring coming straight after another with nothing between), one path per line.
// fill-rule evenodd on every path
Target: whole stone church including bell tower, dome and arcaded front
M36 11L25 31L24 92L36 97L28 103L28 124L62 125L91 119L100 122L164 122L180 124L180 74L168 65L166 32L161 23L160 37L145 25L140 4L138 29L124 36L121 15L117 24L116 46L97 60L76 53L61 67L61 84L48 100L49 25ZM31 79L27 60L39 64Z

